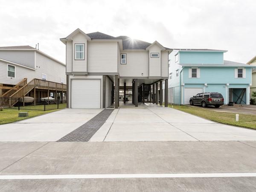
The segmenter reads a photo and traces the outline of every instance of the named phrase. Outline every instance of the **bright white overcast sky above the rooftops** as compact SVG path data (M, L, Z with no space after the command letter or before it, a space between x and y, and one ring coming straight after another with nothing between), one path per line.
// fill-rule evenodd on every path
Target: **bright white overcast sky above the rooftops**
M65 62L59 38L80 28L169 48L224 49L224 59L246 63L256 55L255 10L255 0L0 0L0 46L39 43Z

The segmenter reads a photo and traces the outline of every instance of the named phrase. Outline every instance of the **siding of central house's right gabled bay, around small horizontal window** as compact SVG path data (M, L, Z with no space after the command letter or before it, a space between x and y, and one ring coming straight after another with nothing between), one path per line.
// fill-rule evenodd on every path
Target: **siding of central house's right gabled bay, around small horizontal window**
M159 58L151 58L149 55L149 76L160 77L161 76L161 49L156 44L154 44L149 49L149 54L159 52ZM167 61L168 62L168 61ZM166 64L168 64L166 62ZM168 73L167 73L168 76Z

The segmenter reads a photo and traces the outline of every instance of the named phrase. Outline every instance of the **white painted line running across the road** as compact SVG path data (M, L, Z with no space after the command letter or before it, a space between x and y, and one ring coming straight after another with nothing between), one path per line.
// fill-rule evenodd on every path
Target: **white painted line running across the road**
M105 178L185 178L256 177L256 173L174 173L174 174L99 174L99 175L0 175L0 180L20 179L105 179Z

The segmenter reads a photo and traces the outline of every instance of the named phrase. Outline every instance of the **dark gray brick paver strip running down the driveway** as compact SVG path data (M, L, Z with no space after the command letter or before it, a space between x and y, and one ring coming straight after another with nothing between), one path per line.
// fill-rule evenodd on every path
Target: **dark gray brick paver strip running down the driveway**
M81 125L79 128L75 129L71 133L65 135L60 140L61 142L67 141L89 141L91 137L99 130L99 128L106 122L113 109L105 109L98 115Z

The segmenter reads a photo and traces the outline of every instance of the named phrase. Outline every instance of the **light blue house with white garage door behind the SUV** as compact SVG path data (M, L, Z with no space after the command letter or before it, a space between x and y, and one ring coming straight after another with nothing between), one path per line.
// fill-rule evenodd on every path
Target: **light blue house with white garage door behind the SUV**
M250 104L252 66L223 59L225 50L174 49L169 55L169 103L186 105L197 93L219 92L224 103Z

